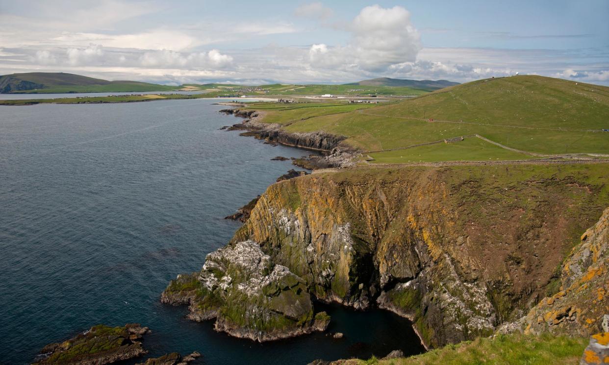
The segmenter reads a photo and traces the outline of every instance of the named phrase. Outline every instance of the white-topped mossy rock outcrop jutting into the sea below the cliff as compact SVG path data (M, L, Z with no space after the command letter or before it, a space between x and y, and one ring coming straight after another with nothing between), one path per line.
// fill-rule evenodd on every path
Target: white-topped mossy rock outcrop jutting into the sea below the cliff
M161 302L188 304L189 319L215 318L217 331L259 342L323 331L329 324L325 312L314 314L305 282L252 240L208 254L200 272L169 283Z

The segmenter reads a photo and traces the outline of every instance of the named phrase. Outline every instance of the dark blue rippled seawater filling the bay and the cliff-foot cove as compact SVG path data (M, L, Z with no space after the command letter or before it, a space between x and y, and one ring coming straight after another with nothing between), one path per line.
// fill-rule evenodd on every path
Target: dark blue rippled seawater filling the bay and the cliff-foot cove
M204 364L306 364L423 349L386 311L319 305L317 333L258 344L161 305L178 273L200 269L239 223L225 215L307 154L220 131L240 119L213 100L0 107L0 363L91 325L140 322L151 356L202 353Z

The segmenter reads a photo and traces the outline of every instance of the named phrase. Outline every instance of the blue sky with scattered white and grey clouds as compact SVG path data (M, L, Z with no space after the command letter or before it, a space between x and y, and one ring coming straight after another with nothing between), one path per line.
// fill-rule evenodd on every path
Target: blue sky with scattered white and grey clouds
M0 75L182 83L609 85L609 1L0 0Z

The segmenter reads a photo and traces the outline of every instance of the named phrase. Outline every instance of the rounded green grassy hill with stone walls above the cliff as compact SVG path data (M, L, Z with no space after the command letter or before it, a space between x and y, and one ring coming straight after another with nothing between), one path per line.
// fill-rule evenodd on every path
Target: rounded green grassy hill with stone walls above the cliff
M269 121L281 121L292 132L347 136L348 144L385 163L609 154L609 132L602 131L609 128L605 86L522 75L451 86L349 113L340 113L342 108L326 108L325 115L305 120L294 111L273 111ZM459 136L470 137L443 143ZM440 143L418 146L435 141Z

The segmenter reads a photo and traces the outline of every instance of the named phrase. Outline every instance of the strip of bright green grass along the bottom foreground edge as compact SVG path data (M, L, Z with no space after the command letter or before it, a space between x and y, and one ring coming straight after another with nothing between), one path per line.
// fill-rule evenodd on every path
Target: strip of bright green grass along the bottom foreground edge
M339 360L331 365L576 365L588 340L565 336L498 335L478 338L409 358Z

